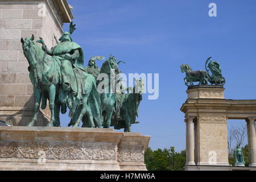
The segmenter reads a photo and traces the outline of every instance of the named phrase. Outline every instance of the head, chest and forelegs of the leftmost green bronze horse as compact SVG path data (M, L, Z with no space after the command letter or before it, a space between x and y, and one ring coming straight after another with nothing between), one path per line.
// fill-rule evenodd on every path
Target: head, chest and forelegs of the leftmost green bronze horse
M34 85L35 110L34 117L28 126L34 126L38 118L38 111L42 101L42 109L46 109L46 101L49 100L51 110L51 121L47 126L58 126L60 103L57 96L60 88L60 59L55 59L46 53L34 42L34 35L31 38L23 38L22 48L26 56L30 72L30 80Z

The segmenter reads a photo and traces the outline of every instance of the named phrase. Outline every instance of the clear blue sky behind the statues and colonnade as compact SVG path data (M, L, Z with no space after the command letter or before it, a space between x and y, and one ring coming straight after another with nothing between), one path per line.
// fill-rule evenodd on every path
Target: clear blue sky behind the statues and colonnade
M217 17L208 15L217 4ZM255 99L255 0L69 0L77 30L74 42L91 56L113 54L126 61L123 73L159 73L159 98L139 107L134 132L150 135L150 147L185 149L184 114L187 98L181 64L204 69L213 56L226 78L225 98ZM64 25L68 30L69 24ZM98 62L101 66L102 63ZM67 125L64 115L62 126ZM229 121L229 125L236 121Z

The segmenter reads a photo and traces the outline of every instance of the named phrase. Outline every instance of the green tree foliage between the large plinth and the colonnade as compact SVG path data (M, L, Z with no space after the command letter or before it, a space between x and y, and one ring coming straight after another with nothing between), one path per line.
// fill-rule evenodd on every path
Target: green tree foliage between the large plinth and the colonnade
M145 152L144 162L149 171L183 171L186 152L175 152L174 147L153 151L150 147Z

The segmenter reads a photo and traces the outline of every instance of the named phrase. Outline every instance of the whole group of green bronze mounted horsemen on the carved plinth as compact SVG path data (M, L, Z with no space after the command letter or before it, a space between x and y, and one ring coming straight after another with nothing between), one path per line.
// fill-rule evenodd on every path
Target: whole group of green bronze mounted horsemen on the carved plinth
M47 100L51 110L51 121L47 126L60 126L60 111L65 114L69 109L71 122L68 126L105 127L114 126L115 129L131 131L131 124L136 122L139 102L142 100L140 86L138 93L112 93L110 84L115 85L122 80L121 73L114 56L105 61L102 68L98 68L96 60L105 57L95 56L89 60L88 67L84 68L84 51L79 44L73 42L71 35L76 30L71 22L69 31L61 35L59 41L56 36L55 47L47 48L43 38L36 40L42 48L31 38L20 39L24 56L26 56L30 72L30 80L34 85L35 110L34 117L27 126L35 126L39 107L46 109ZM99 93L97 77L104 73L109 78L108 92ZM142 84L142 82L138 81ZM137 84L137 85L141 85Z

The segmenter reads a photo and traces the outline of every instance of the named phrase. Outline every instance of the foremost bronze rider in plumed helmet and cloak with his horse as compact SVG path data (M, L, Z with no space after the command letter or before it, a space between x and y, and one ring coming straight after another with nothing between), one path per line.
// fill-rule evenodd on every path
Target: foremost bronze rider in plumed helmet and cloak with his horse
M85 115L88 116L91 127L101 127L101 101L97 92L95 78L86 73L82 67L84 54L82 48L73 43L71 34L75 25L71 23L69 32L64 32L57 46L47 49L42 38L42 49L31 39L21 39L24 55L30 64L30 79L34 85L35 114L28 126L34 126L38 116L40 102L42 109L49 100L51 122L47 126L60 126L59 112L70 109L69 117L73 127ZM96 125L95 125L95 124Z

